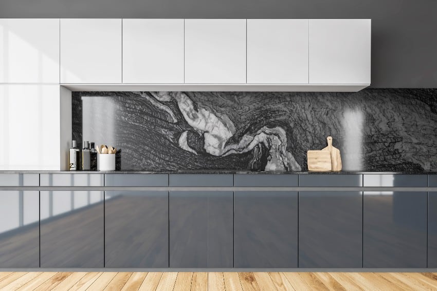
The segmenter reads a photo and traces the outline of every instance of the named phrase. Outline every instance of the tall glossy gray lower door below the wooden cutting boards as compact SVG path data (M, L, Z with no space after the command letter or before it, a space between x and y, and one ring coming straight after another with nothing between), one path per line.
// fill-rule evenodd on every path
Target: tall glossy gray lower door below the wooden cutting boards
M299 267L362 267L362 192L299 192Z

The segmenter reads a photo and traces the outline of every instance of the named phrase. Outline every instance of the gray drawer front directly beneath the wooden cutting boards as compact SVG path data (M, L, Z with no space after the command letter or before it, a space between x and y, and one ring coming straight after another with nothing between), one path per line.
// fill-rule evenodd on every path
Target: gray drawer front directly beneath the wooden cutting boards
M361 187L360 174L306 174L299 175L299 186L307 187Z

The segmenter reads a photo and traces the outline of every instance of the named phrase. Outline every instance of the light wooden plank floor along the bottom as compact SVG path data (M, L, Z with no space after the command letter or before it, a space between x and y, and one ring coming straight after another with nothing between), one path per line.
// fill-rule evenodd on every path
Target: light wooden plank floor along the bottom
M437 273L1 272L0 290L437 290Z

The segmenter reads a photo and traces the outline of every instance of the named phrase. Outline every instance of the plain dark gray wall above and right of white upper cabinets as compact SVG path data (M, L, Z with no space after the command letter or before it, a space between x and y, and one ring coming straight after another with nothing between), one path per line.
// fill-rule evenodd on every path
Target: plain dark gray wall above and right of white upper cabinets
M434 0L1 0L0 18L371 18L372 87L437 88Z

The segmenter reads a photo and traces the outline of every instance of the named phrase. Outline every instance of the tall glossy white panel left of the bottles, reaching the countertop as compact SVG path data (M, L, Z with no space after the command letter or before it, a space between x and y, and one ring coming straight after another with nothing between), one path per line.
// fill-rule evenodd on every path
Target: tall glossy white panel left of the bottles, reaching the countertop
M60 169L59 89L0 85L0 170Z

